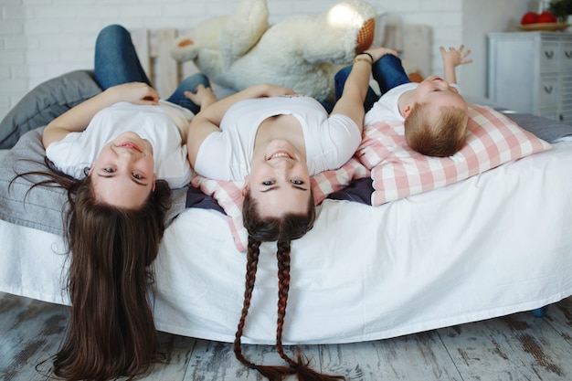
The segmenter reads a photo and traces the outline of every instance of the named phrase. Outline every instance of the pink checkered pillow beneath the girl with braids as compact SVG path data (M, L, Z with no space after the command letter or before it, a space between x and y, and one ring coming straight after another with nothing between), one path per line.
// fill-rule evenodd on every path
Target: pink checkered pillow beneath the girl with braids
M349 185L352 180L369 176L369 171L357 158L352 157L349 162L334 171L325 171L312 176L312 192L316 205L331 193L337 192ZM195 175L191 183L200 188L206 195L213 196L218 205L227 213L228 225L239 251L246 251L249 239L247 229L242 225L242 181L212 180L207 177Z

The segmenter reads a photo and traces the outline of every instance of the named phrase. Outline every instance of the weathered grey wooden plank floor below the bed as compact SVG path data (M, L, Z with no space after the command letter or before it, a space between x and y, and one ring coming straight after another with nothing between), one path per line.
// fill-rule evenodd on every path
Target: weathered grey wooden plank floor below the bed
M0 292L0 381L44 380L68 308ZM167 364L143 380L260 380L231 344L161 333ZM291 348L290 348L291 349ZM544 318L521 312L375 342L302 346L313 368L348 380L572 380L572 297ZM252 361L281 364L272 346L245 345ZM40 364L40 365L38 365ZM38 366L37 366L38 365Z

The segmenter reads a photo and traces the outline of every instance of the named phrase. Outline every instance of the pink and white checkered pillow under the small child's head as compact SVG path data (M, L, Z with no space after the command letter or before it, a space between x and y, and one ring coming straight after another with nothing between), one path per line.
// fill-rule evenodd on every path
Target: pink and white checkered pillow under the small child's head
M450 157L430 157L408 147L403 122L365 126L356 156L371 170L375 189L372 205L450 185L550 148L550 144L490 107L469 105L467 127L467 143L460 152Z

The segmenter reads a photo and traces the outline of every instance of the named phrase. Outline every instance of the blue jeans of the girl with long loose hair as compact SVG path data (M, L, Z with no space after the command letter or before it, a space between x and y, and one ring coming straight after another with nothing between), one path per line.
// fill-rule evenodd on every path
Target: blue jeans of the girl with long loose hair
M119 25L105 26L101 29L95 42L94 74L103 90L129 82L144 82L152 86L137 57L130 33ZM184 91L195 91L200 84L205 87L210 86L207 76L201 73L183 79L167 101L194 113L198 112L200 107L185 98Z

